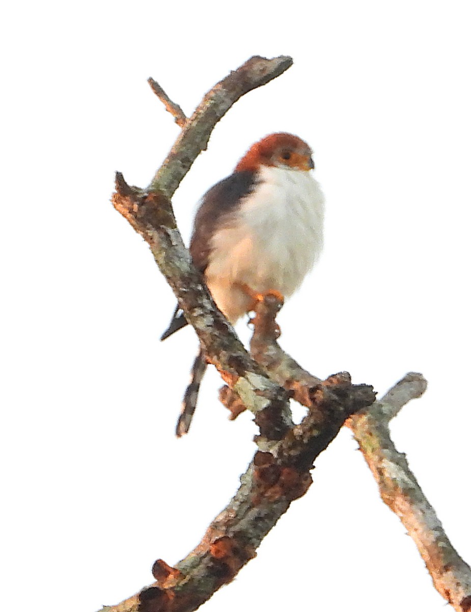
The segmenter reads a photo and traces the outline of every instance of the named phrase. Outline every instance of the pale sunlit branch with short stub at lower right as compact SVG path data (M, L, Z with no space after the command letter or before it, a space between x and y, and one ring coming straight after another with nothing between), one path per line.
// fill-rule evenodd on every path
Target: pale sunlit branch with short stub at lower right
M410 373L348 426L378 483L382 500L398 515L425 561L437 591L458 612L471 610L471 568L445 534L435 510L423 494L390 437L389 420L407 401L426 389L422 375Z

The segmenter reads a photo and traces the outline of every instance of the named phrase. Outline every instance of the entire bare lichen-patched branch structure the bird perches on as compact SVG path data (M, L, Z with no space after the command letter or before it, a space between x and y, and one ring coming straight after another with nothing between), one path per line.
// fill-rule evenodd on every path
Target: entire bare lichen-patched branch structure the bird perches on
M175 223L170 198L206 148L214 125L242 95L276 78L291 64L291 58L284 56L250 58L217 83L189 119L150 80L153 91L182 127L180 136L146 189L130 187L117 173L115 208L150 245L206 356L227 384L222 392L224 403L233 416L242 409L252 411L260 435L238 492L208 527L202 542L175 567L156 561L153 584L118 605L105 606L103 612L198 608L255 556L261 539L291 502L307 491L313 460L348 417L383 498L414 534L437 589L456 610L471 608L470 569L439 530L438 519L418 495L417 482L389 438L387 422L406 401L422 394L423 378L406 376L381 402L374 402L371 387L352 385L348 373L320 381L277 344L275 316L280 304L271 296L257 307L250 356L217 310ZM291 420L290 397L309 408L299 425Z

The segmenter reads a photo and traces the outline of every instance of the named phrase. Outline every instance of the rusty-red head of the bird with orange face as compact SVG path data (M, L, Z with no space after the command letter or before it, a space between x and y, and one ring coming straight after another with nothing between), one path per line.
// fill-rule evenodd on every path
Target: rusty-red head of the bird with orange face
M260 166L309 171L314 168L312 149L293 134L270 134L252 144L236 166L236 171L257 171Z

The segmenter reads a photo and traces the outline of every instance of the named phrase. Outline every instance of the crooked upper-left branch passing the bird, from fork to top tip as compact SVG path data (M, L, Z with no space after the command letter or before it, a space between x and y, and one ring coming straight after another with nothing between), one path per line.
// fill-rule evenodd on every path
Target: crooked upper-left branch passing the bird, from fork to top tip
M219 312L200 272L192 264L173 215L170 197L197 155L205 149L217 121L242 95L287 70L291 58L255 56L214 86L186 121L167 159L146 190L127 185L116 175L112 203L150 245L162 274L172 286L208 359L225 382L260 420L260 435L280 439L291 426L287 392L271 381L247 354L232 326ZM263 417L263 411L271 419Z

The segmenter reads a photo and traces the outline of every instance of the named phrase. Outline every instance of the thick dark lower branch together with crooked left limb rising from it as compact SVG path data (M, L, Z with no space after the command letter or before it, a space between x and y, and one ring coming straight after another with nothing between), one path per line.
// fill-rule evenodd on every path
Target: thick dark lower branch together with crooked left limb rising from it
M349 375L341 373L325 383L318 381L310 391L312 410L300 425L293 426L290 390L272 381L247 354L192 265L175 223L170 196L206 146L216 122L241 95L290 65L290 58L251 58L217 84L186 121L180 139L146 190L130 187L120 173L116 176L115 208L150 245L206 357L239 401L255 414L260 435L259 450L241 479L238 493L210 525L199 546L175 568L156 562L155 584L103 610L183 612L199 607L255 556L261 539L291 501L305 493L313 460L346 417L374 401L371 387L354 386Z

